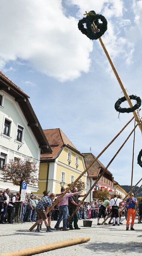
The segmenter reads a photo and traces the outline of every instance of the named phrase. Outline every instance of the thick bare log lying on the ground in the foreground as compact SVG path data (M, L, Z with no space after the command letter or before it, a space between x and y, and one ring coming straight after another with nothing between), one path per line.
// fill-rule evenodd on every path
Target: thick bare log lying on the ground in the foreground
M7 253L0 253L0 256L29 256L29 255L35 255L38 253L43 253L43 252L49 252L51 250L59 249L59 248L64 248L67 246L72 246L75 244L81 244L81 243L86 243L90 240L90 237L76 237L76 238L70 238L68 240L63 240L60 242L54 242L50 244L42 244L41 246L35 246L35 247L30 247L18 251L13 251L13 252L7 252Z

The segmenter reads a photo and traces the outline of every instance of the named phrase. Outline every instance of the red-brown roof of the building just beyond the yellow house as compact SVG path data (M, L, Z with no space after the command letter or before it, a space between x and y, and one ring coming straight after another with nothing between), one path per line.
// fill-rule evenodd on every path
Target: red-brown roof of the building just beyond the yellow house
M84 161L86 163L86 167L92 163L92 161L96 158L92 153L82 153L84 155ZM96 162L89 168L87 171L88 177L98 177L101 169L105 169L105 166L97 159ZM107 169L106 172L112 176L112 173Z

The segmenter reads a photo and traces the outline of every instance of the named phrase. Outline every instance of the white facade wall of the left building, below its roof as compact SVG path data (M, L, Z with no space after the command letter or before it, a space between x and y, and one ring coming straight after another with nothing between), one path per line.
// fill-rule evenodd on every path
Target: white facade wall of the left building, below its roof
M37 162L37 168L39 170L40 148L33 132L28 127L28 123L15 99L4 91L0 91L0 94L4 96L3 107L0 106L0 153L7 155L5 164L15 157L23 160L28 157ZM3 134L5 118L11 121L10 136ZM24 127L22 142L16 140L18 125ZM18 147L20 148L18 149ZM12 186L11 190L15 191L16 186L3 183L1 178L0 175L0 189L6 189L7 185L9 185ZM38 186L34 188L29 187L29 192L30 190L36 192L38 191ZM16 191L18 191L18 187Z

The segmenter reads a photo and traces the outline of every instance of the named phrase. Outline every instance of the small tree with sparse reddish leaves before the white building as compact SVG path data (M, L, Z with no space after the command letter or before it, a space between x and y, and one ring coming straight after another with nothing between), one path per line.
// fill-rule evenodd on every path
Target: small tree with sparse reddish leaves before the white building
M36 168L36 162L30 159L10 160L9 164L3 165L1 169L3 175L3 181L10 181L13 185L20 186L20 193L22 189L22 182L27 182L28 185L36 185L38 182L38 169Z

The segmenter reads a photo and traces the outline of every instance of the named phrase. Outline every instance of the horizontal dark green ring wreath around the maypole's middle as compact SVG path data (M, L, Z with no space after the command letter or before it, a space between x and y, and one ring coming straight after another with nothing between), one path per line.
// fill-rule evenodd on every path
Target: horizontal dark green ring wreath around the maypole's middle
M120 112L120 113L130 113L130 112L134 112L136 109L139 109L139 107L141 106L141 98L136 96L136 95L129 95L130 99L131 100L136 100L137 103L133 106L133 107L124 107L124 108L121 108L120 107L120 104L124 101L126 101L126 97L122 97L120 98L119 100L117 100L117 102L115 103L115 109L116 111Z

